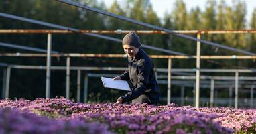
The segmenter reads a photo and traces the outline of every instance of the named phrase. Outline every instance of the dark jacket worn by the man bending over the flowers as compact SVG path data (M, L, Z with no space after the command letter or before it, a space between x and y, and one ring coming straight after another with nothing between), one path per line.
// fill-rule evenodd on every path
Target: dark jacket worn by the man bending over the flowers
M121 80L130 80L133 87L131 92L121 96L122 103L131 101L142 94L149 98L149 104L159 103L159 88L153 70L154 65L147 54L139 49L134 58L128 57L128 70L121 74ZM149 92L145 92L146 90Z

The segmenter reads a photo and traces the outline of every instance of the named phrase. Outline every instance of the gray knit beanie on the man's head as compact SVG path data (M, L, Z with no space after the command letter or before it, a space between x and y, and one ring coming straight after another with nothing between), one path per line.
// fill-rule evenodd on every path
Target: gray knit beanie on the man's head
M141 47L141 42L139 42L139 36L134 31L130 31L128 34L125 35L123 38L123 45L131 45L135 46L136 48Z

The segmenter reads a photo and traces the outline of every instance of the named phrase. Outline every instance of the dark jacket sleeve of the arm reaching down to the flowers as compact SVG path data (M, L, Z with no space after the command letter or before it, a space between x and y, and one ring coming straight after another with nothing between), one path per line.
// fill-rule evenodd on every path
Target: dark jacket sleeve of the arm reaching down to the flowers
M122 103L138 98L141 94L145 92L145 90L147 89L147 84L149 82L150 68L151 64L147 62L144 62L141 66L139 66L139 73L137 74L138 85L133 90L131 90L131 92L125 94L125 96L121 96Z

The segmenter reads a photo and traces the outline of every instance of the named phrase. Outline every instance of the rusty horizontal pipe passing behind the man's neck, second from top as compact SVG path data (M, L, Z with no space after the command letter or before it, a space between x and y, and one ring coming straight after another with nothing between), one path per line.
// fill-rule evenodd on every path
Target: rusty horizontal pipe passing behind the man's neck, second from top
M46 57L47 54L31 54L31 53L1 53L0 56L19 56L19 57ZM126 58L126 54L52 54L52 57L101 57L101 58ZM180 56L180 55L149 55L151 58L172 58L172 59L195 59L196 56ZM201 56L201 59L256 59L256 56Z

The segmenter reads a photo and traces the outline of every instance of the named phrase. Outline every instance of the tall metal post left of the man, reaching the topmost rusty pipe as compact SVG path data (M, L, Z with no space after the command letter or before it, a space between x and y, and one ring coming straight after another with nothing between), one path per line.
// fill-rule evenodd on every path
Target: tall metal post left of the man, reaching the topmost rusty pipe
M46 98L50 98L52 34L47 34Z

